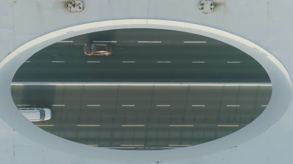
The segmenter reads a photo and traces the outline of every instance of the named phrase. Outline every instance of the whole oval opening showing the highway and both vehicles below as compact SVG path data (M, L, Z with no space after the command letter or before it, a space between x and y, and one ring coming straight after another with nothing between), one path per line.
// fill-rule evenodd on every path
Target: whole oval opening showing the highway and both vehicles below
M59 137L120 150L194 146L254 121L269 103L265 69L218 40L116 29L51 44L15 73L11 94Z

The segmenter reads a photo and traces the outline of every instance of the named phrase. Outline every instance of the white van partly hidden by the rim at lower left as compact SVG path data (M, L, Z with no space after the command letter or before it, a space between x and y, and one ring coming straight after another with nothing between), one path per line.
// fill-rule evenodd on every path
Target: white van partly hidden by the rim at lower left
M50 120L51 110L48 108L18 108L20 113L31 122L41 122Z

